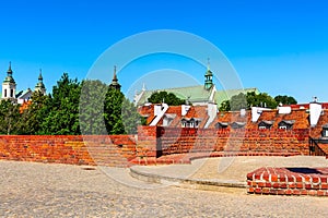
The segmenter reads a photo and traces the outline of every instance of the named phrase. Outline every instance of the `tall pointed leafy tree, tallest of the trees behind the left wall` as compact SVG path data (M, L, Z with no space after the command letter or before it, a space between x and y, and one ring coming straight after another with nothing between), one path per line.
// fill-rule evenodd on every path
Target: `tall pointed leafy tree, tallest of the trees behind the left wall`
M47 114L42 123L42 134L77 135L80 134L79 100L81 84L63 73L52 87L52 96L46 101Z

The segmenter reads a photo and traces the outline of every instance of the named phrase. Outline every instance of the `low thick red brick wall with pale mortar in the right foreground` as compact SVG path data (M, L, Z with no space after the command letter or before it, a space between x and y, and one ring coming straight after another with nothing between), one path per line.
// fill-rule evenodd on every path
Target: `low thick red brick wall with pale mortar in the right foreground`
M328 168L260 168L247 174L247 192L328 196Z

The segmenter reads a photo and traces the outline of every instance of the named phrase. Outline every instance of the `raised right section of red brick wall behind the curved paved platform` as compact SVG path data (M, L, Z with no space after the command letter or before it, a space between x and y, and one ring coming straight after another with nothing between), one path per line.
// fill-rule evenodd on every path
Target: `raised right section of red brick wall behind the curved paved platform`
M300 153L308 155L308 130L214 130L157 128L162 154L189 152Z

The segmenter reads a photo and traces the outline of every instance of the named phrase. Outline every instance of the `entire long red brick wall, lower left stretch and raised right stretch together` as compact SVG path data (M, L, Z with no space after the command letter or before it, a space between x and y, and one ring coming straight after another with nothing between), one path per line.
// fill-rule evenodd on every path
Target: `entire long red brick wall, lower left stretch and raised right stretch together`
M139 126L129 135L2 135L0 159L126 167L136 157L199 152L308 155L308 130L215 130Z

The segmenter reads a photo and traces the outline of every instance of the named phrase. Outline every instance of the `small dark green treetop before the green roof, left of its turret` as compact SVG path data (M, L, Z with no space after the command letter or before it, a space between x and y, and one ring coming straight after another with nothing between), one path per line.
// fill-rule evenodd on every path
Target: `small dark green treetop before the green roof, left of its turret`
M169 106L179 106L186 104L184 99L180 99L173 93L167 93L165 90L153 93L148 98L148 101L152 104L160 104L164 101Z

